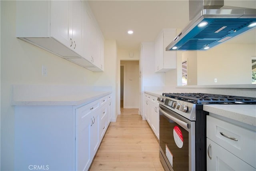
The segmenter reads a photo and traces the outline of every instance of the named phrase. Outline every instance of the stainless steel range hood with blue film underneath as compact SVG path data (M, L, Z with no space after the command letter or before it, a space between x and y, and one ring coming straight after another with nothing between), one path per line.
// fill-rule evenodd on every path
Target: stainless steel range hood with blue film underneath
M256 9L224 6L224 0L189 0L189 15L166 51L208 50L256 26Z

